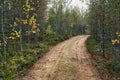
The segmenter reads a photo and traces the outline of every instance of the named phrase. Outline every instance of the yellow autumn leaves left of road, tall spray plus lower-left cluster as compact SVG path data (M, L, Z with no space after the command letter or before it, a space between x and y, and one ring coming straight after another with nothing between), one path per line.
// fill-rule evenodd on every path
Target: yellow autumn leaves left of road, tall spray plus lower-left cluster
M20 37L20 33L17 31L20 27L20 22L23 23L21 27L29 27L29 31L26 32L26 35L36 33L40 31L37 26L37 14L35 13L35 6L31 4L32 0L25 0L24 5L22 6L24 18L15 17L15 22L12 24L12 32L9 39L15 40ZM26 29L25 29L26 30Z

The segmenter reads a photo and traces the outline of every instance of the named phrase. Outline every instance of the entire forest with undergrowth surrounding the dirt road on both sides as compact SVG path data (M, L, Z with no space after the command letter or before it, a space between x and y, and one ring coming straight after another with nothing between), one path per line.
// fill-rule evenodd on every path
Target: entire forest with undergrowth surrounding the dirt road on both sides
M72 1L0 0L0 80L19 80L53 46L79 35L89 36L100 80L120 80L120 0L79 0L86 11Z

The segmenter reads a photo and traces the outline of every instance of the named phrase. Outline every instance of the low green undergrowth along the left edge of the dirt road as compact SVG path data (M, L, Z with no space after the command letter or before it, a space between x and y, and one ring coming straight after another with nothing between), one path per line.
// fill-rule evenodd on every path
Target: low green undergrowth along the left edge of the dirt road
M24 51L7 51L10 53L7 61L0 63L0 79L12 80L32 66L32 64L43 56L52 45L67 39L59 34L44 34L43 40L38 44L25 44ZM16 44L16 43L15 43ZM14 45L15 45L14 44ZM12 47L11 47L12 49ZM11 50L10 49L10 50ZM11 55L13 54L13 55Z

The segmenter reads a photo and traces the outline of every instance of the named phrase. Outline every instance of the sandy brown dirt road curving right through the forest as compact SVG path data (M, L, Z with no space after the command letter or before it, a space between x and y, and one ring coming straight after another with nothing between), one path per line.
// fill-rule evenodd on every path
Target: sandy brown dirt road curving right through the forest
M87 37L59 43L18 80L101 80L86 49Z

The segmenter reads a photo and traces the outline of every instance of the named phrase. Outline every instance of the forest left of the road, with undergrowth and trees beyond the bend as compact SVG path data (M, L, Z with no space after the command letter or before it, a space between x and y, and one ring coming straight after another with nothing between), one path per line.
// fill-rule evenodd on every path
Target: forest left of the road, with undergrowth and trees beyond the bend
M54 0L53 7L47 9L48 2L0 1L0 80L13 80L51 46L85 33L77 7L70 10L64 0Z

